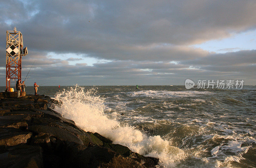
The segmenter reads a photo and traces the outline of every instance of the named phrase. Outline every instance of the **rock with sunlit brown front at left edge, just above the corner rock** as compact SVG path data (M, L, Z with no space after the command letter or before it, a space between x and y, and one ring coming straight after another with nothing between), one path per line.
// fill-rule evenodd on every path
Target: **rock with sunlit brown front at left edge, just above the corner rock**
M14 146L27 143L31 136L31 132L23 132L16 128L0 129L0 145Z

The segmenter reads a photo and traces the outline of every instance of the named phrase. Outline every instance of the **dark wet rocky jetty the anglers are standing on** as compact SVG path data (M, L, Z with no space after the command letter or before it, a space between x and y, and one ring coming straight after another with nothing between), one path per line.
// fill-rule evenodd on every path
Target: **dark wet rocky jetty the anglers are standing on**
M158 160L85 132L49 108L49 96L0 95L0 167L153 168Z

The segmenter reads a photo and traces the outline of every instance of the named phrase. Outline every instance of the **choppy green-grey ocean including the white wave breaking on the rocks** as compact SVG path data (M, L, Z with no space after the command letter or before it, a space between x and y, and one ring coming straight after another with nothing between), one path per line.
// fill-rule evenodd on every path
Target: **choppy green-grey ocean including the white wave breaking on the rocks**
M40 86L38 94L61 100L55 110L85 131L159 158L161 168L256 167L256 86Z

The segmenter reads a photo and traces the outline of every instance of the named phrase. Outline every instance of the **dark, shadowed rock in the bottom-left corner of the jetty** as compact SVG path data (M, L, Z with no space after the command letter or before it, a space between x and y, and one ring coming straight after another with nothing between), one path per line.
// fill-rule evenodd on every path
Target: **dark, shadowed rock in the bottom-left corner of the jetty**
M43 167L43 150L40 146L14 146L0 154L0 167L41 168Z

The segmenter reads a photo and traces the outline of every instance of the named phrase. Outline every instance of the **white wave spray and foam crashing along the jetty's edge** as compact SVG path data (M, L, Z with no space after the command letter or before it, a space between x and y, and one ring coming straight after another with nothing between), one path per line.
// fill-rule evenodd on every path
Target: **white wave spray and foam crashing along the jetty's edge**
M98 132L113 143L125 145L141 155L159 158L161 166L174 167L185 157L184 152L172 146L170 141L160 136L147 136L132 126L107 117L103 112L104 99L94 93L94 89L84 91L79 86L64 90L55 97L63 102L55 110L63 117L74 120L85 131Z

